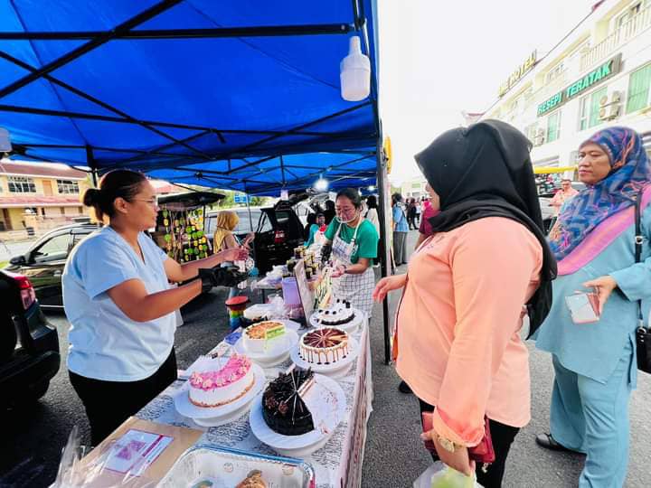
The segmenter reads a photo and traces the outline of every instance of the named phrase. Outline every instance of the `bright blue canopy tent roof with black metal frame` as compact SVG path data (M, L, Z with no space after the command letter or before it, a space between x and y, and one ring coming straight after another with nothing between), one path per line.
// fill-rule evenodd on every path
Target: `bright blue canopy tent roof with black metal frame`
M382 189L376 27L375 0L0 0L0 127L11 157L93 175ZM340 95L353 35L372 66L360 102Z

